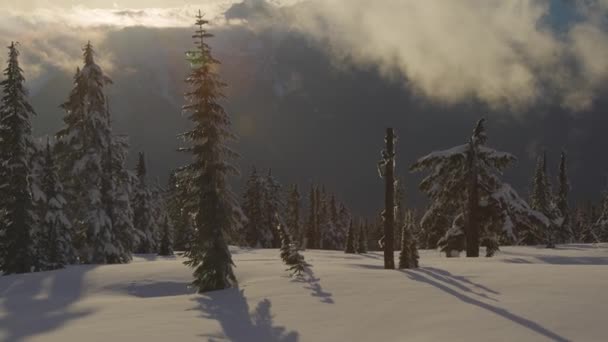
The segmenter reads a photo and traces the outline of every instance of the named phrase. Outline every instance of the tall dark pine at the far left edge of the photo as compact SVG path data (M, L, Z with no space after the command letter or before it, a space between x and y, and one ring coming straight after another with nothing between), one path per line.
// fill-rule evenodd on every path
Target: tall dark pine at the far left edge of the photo
M17 44L11 43L8 50L6 79L0 82L0 270L5 274L35 267L33 233L38 219L30 161L35 153L30 120L36 113L27 100Z

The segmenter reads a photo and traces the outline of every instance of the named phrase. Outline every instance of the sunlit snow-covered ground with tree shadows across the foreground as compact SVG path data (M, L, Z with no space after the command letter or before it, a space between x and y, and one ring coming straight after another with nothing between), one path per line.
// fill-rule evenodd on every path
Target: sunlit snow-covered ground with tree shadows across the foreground
M607 341L608 245L504 247L494 258L233 249L240 288L198 295L179 258L0 277L0 341Z

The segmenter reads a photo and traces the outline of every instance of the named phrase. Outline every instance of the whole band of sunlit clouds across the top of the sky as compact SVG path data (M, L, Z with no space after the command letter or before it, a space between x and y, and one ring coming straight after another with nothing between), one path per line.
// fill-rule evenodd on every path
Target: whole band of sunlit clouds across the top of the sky
M573 0L567 11L577 14L559 26L550 20L556 1L208 0L27 12L0 6L0 37L22 43L29 77L37 79L48 67L73 72L87 40L102 45L108 32L131 26L190 27L200 7L215 25L229 17L250 28L304 32L337 63L377 67L430 101L476 100L522 113L537 104L584 111L608 79L608 0ZM117 58L103 57L108 68Z

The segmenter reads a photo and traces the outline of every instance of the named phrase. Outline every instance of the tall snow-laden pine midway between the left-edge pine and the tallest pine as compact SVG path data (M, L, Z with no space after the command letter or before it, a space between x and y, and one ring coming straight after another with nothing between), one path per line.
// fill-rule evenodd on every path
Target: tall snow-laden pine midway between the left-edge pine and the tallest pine
M91 43L84 47L84 67L77 70L74 88L62 105L66 127L57 133L61 177L70 205L70 221L76 223L76 244L81 261L110 263L123 259L109 212L111 175L107 172L112 137L105 86L112 81L95 63Z

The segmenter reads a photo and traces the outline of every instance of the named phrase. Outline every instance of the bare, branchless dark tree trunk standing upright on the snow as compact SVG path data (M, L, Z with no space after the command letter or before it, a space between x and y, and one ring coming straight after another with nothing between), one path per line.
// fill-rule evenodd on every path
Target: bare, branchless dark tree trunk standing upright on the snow
M386 150L384 161L385 197L384 197L384 268L395 268L394 232L395 232L395 133L392 128L386 129Z

